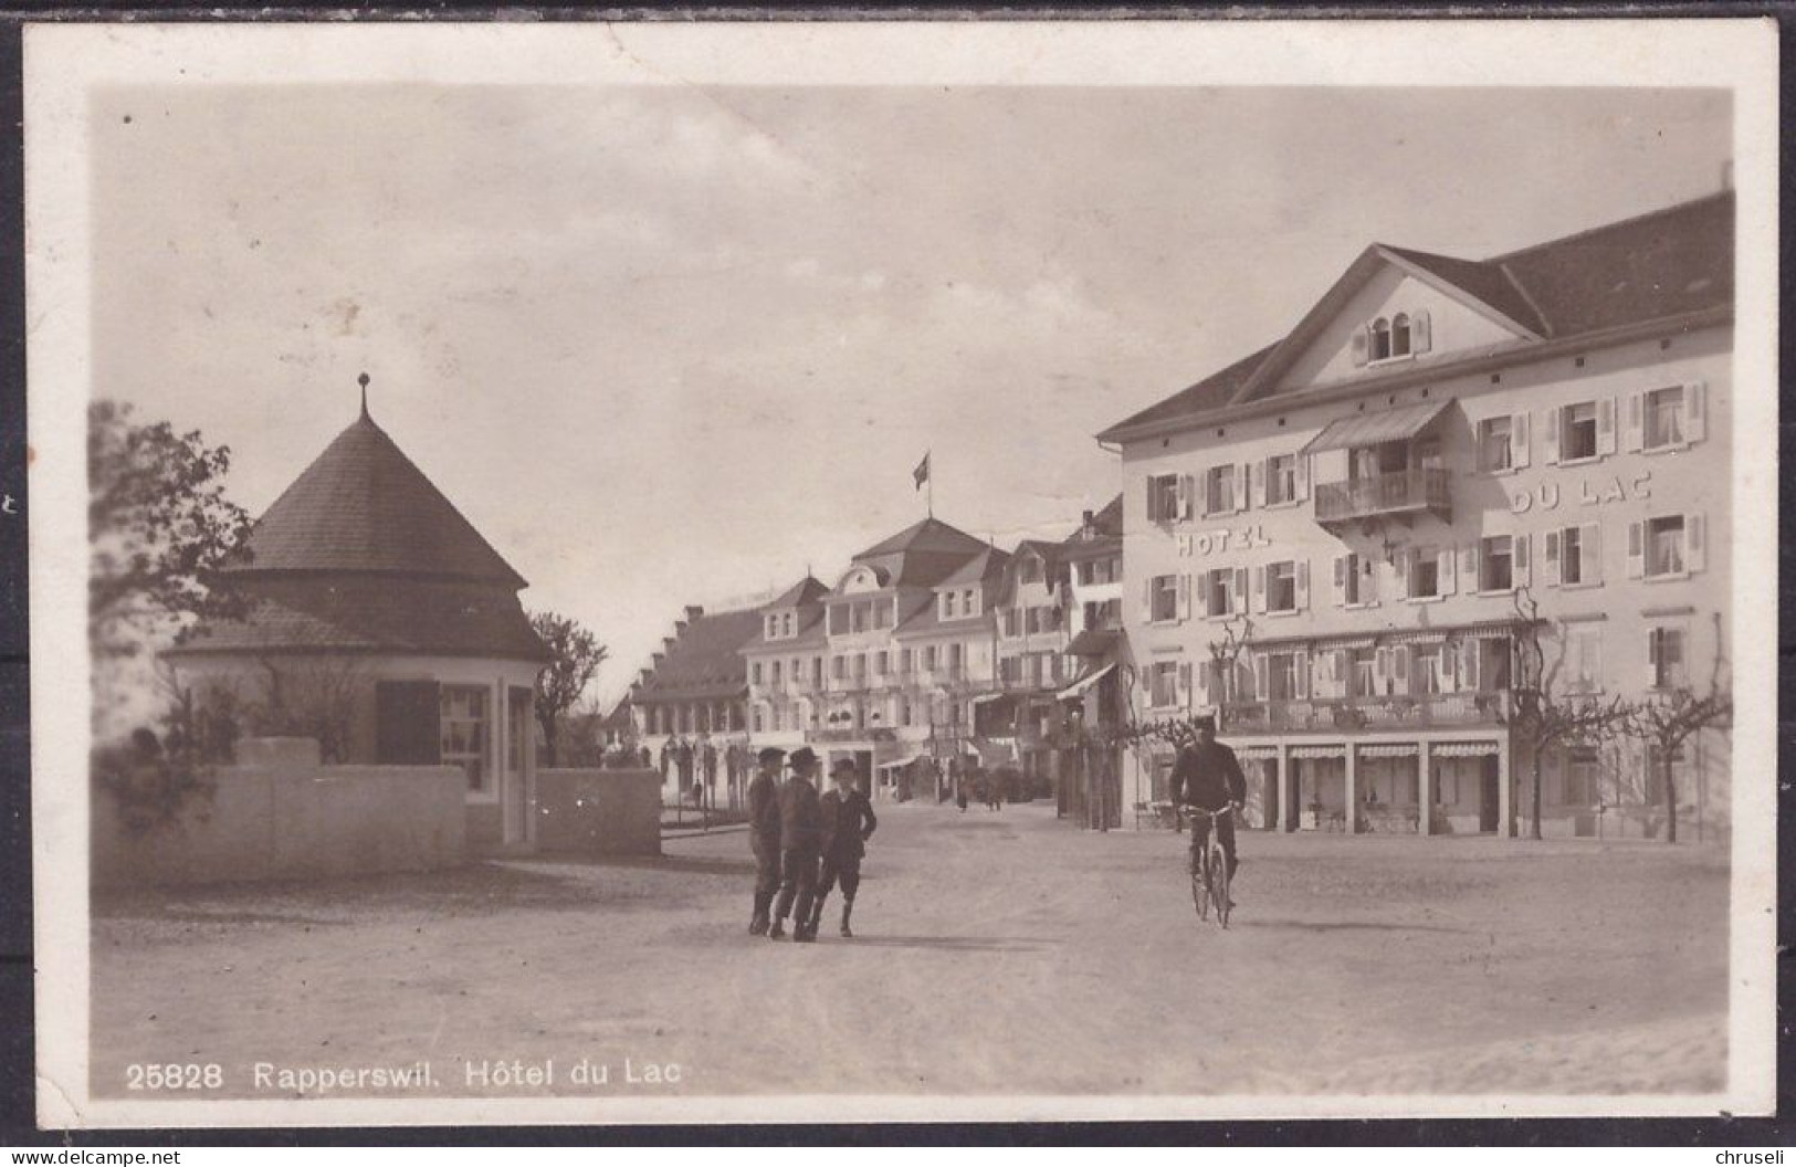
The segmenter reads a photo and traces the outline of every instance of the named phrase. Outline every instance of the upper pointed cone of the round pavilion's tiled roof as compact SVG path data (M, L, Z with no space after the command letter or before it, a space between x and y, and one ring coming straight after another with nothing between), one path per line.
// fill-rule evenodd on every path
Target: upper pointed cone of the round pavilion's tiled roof
M524 587L366 409L275 499L248 548L250 560L235 571L374 571Z

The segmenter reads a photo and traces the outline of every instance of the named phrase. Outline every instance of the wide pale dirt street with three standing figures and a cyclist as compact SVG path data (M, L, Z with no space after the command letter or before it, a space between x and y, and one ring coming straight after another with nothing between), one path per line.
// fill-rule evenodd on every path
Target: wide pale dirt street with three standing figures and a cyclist
M699 1095L1724 1086L1721 851L1245 833L1225 934L1196 921L1184 844L1047 804L882 806L860 935L832 901L806 946L747 935L742 831L663 860L110 898L93 1092L128 1095L142 1063L280 1097L305 1083L255 1063L418 1061L427 1093L582 1093L582 1061ZM496 1081L548 1059L553 1083Z

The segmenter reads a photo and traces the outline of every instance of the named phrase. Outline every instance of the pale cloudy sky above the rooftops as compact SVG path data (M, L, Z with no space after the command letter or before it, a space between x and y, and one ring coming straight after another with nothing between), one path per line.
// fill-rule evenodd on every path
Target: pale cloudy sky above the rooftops
M936 515L1119 490L1105 426L1369 242L1480 259L1710 194L1710 90L113 88L92 391L260 513L370 409L611 650Z

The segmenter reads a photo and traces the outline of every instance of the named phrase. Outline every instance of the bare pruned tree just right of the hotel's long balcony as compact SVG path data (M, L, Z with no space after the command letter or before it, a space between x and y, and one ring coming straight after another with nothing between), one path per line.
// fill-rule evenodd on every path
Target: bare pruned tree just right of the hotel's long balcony
M1600 741L1627 724L1629 707L1620 697L1566 693L1561 684L1566 637L1563 625L1541 619L1539 601L1528 589L1516 591L1516 675L1510 679L1509 725L1512 740L1528 759L1528 833L1541 837L1541 763L1566 743ZM1548 661L1548 641L1559 645Z

